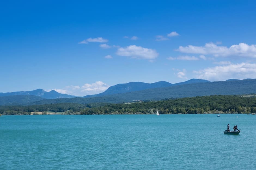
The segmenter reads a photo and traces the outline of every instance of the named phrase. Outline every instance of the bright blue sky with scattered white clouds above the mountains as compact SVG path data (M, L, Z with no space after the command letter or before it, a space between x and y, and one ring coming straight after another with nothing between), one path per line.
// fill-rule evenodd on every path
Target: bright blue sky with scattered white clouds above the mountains
M0 5L0 92L256 78L254 1Z

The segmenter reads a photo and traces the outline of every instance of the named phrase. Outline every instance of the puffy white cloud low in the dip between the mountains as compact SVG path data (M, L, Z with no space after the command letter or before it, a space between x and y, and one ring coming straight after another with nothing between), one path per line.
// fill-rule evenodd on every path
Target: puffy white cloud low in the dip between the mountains
M95 83L92 83L92 84L88 84L88 83L84 84L81 88L82 89L81 92L87 92L87 93L94 92L95 94L97 94L105 91L108 88L109 86L103 83L102 81L96 81Z

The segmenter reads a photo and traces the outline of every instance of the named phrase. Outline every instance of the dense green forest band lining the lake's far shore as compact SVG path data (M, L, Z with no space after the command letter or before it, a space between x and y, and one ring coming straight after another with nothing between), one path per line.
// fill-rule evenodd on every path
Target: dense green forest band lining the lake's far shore
M65 112L65 114L211 114L256 113L256 97L213 95L146 101L130 104L59 103L31 106L1 106L0 114L31 114L34 111Z

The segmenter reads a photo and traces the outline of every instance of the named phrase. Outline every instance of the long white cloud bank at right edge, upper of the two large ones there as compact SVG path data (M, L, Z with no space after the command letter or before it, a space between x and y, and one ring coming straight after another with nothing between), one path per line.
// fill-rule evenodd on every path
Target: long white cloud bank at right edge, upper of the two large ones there
M212 54L215 57L243 56L256 58L256 45L248 45L245 43L232 45L229 48L226 46L217 46L214 43L206 43L205 46L179 46L177 51L182 53L193 53L203 55Z

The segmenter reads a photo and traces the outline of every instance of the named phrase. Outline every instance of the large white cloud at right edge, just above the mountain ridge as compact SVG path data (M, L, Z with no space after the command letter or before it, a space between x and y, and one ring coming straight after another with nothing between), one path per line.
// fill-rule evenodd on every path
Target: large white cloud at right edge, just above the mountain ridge
M246 79L256 78L255 63L238 63L223 66L215 66L211 68L194 71L199 79L209 81L225 81L227 79Z

